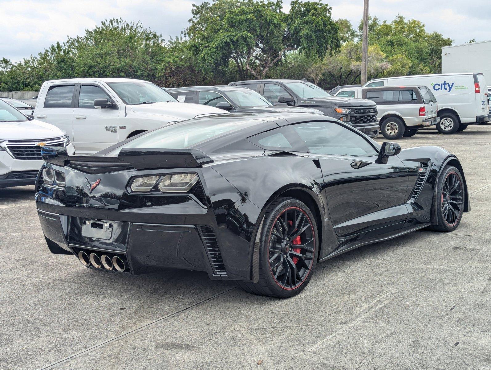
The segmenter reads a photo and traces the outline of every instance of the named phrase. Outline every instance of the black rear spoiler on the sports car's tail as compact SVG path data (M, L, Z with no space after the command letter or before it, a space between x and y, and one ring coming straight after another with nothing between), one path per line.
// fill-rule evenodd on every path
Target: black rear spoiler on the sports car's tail
M43 160L57 166L67 166L71 161L131 165L136 170L201 167L213 160L197 149L122 148L117 157L68 155L66 148L43 146Z

